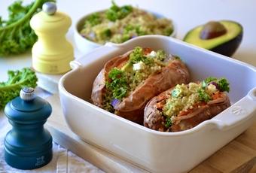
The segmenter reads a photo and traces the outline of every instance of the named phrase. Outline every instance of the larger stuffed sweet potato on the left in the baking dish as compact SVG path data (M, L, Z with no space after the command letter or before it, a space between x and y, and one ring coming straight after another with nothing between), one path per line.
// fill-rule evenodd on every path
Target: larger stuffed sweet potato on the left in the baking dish
M143 124L146 103L178 83L188 83L184 63L163 50L136 47L105 63L93 82L94 105Z

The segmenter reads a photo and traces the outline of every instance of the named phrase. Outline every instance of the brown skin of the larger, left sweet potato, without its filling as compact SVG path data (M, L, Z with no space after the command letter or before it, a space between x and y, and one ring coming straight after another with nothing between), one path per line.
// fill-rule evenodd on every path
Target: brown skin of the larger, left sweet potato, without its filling
M131 52L132 51L111 59L105 64L102 71L99 72L93 83L91 98L94 105L102 108L105 81L108 80L108 71L114 67L121 67L129 59ZM189 71L184 63L179 59L172 60L172 62L166 67L163 67L161 71L151 74L144 83L136 87L136 90L124 98L122 102L115 105L114 114L135 123L143 124L144 108L151 98L178 83L188 83L189 79Z

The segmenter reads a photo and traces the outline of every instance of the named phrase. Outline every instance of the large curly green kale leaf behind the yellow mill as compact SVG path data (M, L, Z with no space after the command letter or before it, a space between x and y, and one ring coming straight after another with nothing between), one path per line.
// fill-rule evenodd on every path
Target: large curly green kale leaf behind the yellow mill
M35 0L26 6L18 0L8 7L8 20L0 17L0 56L23 53L35 44L37 36L29 21L35 13L41 11L44 2L54 0Z

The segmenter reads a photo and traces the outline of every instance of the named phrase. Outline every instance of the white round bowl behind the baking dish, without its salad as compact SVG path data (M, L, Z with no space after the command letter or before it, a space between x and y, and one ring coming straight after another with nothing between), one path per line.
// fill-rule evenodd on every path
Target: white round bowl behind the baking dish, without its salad
M102 11L96 11L96 12L102 12ZM93 12L93 13L96 13L96 12ZM164 16L161 15L161 14L157 14L155 12L151 12L151 11L148 11L150 12L151 14L154 14L155 17L157 18L163 18ZM93 13L90 13L90 14L93 14ZM89 53L91 50L97 48L97 47L101 47L103 44L98 44L96 42L93 42L93 41L90 41L89 39L87 38L84 38L81 34L80 34L80 31L81 29L83 28L84 26L84 20L90 15L90 14L87 14L85 15L84 17L81 17L75 24L75 31L74 31L74 38L75 38L75 44L76 44L76 47L78 47L78 50L81 51L81 53ZM166 17L165 17L166 18ZM170 37L173 37L175 38L176 36L176 24L173 22L172 20L172 24L173 24L173 32L171 35L169 35Z

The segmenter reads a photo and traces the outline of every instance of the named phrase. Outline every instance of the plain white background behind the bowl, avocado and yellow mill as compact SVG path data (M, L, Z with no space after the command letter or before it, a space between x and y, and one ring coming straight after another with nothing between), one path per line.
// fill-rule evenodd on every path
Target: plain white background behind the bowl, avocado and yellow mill
M7 16L8 5L14 2L2 0L0 15ZM30 2L30 1L25 1ZM244 35L239 50L234 59L248 62L256 66L256 1L254 0L115 0L117 5L135 5L149 11L154 11L175 21L178 31L177 38L182 39L186 32L195 26L207 23L209 20L235 20L242 24ZM67 38L72 41L75 22L85 14L110 7L109 0L58 0L59 11L72 17L72 27ZM1 45L0 45L1 46ZM75 57L82 56L75 48ZM31 66L31 53L14 57L0 58L0 81L6 80L8 69L19 69Z

